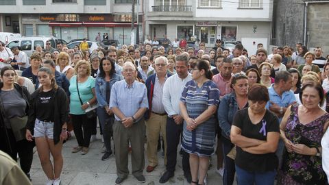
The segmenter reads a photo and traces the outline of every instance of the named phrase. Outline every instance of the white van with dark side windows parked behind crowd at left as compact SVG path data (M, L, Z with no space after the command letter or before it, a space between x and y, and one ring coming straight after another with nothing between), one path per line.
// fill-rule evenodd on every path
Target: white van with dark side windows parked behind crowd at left
M36 47L40 46L42 49L45 48L47 40L50 41L51 47L56 48L58 39L53 36L23 36L21 38L16 38L12 42L9 42L5 47L20 47L22 51L27 53L27 56L31 56Z

